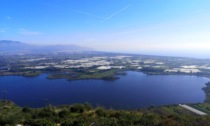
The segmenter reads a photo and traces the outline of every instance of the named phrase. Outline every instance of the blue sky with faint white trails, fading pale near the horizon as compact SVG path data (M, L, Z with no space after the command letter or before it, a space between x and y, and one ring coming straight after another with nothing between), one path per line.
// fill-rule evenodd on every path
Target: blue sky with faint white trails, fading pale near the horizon
M0 0L0 40L210 58L210 0Z

